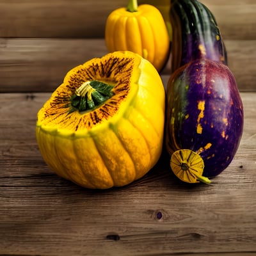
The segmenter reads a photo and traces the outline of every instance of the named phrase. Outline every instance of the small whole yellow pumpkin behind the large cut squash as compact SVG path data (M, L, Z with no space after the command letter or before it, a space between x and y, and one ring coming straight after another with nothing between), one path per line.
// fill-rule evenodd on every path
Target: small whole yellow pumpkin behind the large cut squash
M150 61L157 71L166 64L170 39L161 12L151 4L137 5L111 12L106 20L105 41L109 52L132 51Z

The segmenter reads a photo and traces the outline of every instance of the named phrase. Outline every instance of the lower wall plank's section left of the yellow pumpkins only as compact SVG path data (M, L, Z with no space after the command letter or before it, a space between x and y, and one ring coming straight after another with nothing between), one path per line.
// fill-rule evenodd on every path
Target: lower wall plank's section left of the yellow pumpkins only
M51 92L68 70L107 53L102 39L0 39L0 92Z

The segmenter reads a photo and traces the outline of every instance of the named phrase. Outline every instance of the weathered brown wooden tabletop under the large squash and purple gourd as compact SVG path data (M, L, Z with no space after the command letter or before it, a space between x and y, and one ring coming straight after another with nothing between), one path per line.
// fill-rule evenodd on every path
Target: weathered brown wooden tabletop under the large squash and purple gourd
M138 182L106 191L45 165L35 122L49 96L0 94L0 255L255 255L255 92L241 93L241 145L210 186L177 180L163 154Z

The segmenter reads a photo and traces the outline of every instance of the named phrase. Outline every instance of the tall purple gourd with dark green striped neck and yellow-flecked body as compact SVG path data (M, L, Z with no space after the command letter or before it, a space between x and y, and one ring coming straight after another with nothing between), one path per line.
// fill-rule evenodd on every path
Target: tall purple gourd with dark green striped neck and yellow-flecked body
M210 183L237 152L243 103L211 11L196 0L174 0L170 20L172 75L166 91L170 166L184 182Z

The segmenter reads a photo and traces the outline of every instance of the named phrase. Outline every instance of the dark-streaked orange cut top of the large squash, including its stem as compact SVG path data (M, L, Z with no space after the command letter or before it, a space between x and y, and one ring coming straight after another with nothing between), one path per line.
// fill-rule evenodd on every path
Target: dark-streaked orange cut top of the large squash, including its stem
M141 56L113 52L72 68L38 112L38 126L90 130L115 116L140 76Z

